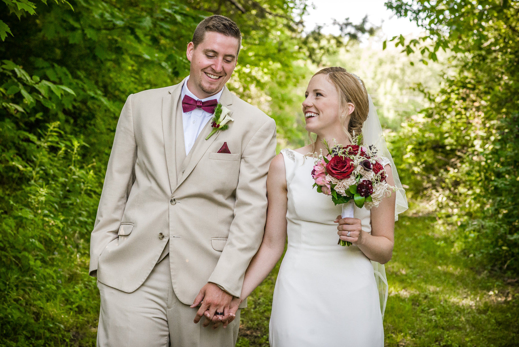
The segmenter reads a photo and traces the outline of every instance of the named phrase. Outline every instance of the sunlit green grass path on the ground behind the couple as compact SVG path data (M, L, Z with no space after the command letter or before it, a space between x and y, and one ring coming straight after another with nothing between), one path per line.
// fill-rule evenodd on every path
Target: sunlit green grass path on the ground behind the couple
M389 298L386 346L519 345L516 278L481 272L471 258L452 252L435 220L402 217L386 264ZM237 346L268 346L272 290L279 264L249 297ZM347 338L347 337L345 337Z

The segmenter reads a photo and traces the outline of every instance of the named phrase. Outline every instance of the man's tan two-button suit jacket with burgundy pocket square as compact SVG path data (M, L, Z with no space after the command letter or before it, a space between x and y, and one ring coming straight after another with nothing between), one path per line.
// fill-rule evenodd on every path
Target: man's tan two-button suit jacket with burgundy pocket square
M91 235L89 273L132 292L169 251L175 295L192 304L207 282L240 296L263 238L276 124L224 87L220 102L234 121L206 140L208 122L186 156L184 81L126 100ZM224 142L231 154L216 153Z

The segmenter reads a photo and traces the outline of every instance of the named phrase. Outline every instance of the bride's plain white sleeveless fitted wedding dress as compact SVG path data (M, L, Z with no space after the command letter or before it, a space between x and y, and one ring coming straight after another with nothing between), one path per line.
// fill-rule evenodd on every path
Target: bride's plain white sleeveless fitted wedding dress
M371 261L337 245L340 205L312 189L314 159L281 151L286 171L288 247L279 269L269 341L272 347L384 346L383 318ZM371 213L354 209L362 230Z

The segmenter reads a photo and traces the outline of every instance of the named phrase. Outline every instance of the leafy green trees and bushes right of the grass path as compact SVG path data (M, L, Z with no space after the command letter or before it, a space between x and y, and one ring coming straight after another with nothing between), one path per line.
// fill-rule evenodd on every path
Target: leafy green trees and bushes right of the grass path
M403 181L431 201L463 250L489 269L519 272L517 2L392 1L398 15L426 30L418 39L394 38L425 59L454 52L441 90L401 129L395 148ZM431 49L424 45L427 43ZM426 62L427 60L424 60Z

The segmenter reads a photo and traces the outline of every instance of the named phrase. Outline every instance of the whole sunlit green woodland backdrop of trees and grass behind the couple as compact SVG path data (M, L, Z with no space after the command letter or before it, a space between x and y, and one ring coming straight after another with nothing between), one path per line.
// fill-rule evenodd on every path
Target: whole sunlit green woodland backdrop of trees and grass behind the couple
M308 143L301 103L319 69L343 66L373 96L410 203L386 266L386 345L515 346L518 12L500 0L3 0L0 346L95 345L89 239L119 112L189 73L186 45L212 14L240 26L227 86L275 119L278 151ZM249 297L238 346L268 346L277 269Z

